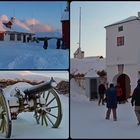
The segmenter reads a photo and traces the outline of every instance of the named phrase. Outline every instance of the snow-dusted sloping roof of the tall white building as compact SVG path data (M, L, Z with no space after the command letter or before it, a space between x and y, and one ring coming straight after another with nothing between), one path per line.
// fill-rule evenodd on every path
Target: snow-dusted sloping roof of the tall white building
M118 24L121 24L121 23L126 23L126 22L130 22L130 21L134 21L134 20L140 20L140 18L139 18L139 17L136 17L136 16L130 16L130 17L124 19L124 20L121 20L121 21L112 23L112 24L110 24L110 25L107 25L107 26L105 26L105 28L106 28L106 27L109 27L109 26L118 25Z

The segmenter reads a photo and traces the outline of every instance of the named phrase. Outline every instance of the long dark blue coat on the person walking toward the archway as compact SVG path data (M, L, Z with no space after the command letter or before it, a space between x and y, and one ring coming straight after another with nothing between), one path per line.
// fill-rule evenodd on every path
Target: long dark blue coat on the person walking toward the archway
M106 103L107 103L107 108L117 108L117 91L114 87L107 89Z

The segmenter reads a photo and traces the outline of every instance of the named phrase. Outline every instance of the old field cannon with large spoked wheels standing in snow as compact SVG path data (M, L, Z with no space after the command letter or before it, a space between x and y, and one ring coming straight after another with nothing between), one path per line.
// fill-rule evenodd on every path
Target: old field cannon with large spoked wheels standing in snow
M53 78L35 86L14 87L10 93L0 89L0 132L11 137L12 120L19 113L34 112L37 124L58 128L62 120L62 106Z

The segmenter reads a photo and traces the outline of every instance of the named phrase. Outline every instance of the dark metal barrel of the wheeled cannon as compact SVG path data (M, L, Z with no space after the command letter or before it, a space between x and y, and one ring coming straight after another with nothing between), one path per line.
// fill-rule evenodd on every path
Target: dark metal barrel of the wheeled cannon
M55 80L53 78L51 78L51 80L49 82L44 82L42 84L35 85L35 86L31 87L31 88L27 88L23 92L26 95L37 94L37 93L40 93L40 92L44 92L44 91L47 91L47 90L49 90L49 89L51 89L53 87L52 86L53 82L55 82Z

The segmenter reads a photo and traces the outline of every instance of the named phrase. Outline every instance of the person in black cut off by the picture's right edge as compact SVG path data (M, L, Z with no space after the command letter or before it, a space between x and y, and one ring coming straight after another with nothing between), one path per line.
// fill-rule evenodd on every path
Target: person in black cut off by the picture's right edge
M134 106L135 103L135 114L140 125L140 79L137 81L137 87L134 89L131 99L131 104Z

